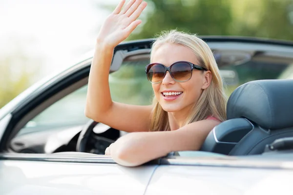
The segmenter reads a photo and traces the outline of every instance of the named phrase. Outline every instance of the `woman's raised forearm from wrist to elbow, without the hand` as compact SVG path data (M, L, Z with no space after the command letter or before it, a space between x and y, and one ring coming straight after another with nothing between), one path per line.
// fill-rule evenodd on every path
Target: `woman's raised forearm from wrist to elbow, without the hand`
M113 48L97 41L88 78L85 106L85 115L94 120L101 117L112 105L108 81L112 57Z

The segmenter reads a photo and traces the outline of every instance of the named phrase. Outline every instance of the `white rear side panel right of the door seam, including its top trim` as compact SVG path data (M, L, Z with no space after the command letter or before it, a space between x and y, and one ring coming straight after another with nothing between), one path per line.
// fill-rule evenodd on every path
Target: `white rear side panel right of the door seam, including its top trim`
M145 195L274 195L291 192L293 158L179 152L161 159Z

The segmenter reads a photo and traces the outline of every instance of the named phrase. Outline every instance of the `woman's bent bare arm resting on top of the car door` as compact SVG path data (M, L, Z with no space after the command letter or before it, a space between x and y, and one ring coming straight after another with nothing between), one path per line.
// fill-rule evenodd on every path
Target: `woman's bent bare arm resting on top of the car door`
M106 149L115 162L138 166L172 151L199 150L209 132L220 122L201 120L175 131L136 132L119 138Z

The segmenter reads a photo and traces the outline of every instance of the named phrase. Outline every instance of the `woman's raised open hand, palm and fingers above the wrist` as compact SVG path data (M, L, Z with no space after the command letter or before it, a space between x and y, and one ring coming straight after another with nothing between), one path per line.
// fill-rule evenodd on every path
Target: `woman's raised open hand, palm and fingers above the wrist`
M98 43L114 48L125 40L130 33L142 22L137 20L146 8L143 0L121 0L116 9L107 17L97 37Z

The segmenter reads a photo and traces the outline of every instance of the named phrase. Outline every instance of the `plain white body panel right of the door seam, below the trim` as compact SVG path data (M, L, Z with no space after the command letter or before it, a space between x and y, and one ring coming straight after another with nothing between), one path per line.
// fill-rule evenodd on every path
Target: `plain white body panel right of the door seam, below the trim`
M286 194L292 179L293 170L160 165L145 195Z

